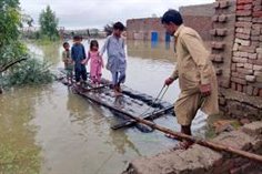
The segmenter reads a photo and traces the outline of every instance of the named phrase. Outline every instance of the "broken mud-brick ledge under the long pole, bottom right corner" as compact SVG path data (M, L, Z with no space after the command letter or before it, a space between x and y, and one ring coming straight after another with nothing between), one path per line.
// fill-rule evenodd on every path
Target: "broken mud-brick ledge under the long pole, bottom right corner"
M212 140L229 146L261 154L262 122L245 124ZM193 145L187 151L167 151L152 157L134 160L122 174L260 174L261 164L229 153Z

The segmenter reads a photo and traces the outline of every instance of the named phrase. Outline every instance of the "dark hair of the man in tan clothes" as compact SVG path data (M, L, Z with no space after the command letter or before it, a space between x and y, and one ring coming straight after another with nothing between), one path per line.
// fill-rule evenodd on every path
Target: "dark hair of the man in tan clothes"
M161 22L162 23L168 23L168 24L173 22L174 24L180 25L180 24L183 23L183 19L182 19L182 17L181 17L179 11L177 11L177 10L168 10L163 14L163 17L161 19Z

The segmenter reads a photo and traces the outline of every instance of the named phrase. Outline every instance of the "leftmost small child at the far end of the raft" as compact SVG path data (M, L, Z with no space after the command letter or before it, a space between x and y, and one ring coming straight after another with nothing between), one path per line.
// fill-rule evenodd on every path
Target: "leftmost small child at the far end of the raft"
M62 61L64 63L64 70L67 71L67 82L69 85L72 84L73 79L73 60L71 59L70 44L63 43L64 51L62 52Z

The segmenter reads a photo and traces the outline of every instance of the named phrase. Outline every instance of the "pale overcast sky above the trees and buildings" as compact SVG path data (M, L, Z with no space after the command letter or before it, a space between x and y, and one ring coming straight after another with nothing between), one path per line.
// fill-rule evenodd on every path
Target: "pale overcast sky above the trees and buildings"
M49 4L66 29L102 29L115 21L161 17L168 9L182 6L212 3L214 0L20 0L22 11L38 25L40 12Z

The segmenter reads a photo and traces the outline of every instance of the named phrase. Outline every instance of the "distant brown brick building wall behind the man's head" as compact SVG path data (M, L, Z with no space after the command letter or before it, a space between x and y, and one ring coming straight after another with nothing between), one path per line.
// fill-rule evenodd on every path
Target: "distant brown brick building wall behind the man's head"
M213 4L190 6L180 8L184 24L195 29L203 40L211 40L206 34L212 28ZM127 21L129 40L151 40L151 32L159 33L159 41L165 40L165 30L160 18L130 19Z

